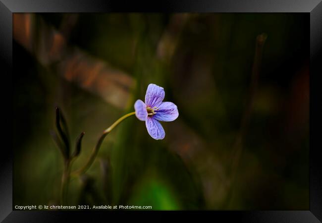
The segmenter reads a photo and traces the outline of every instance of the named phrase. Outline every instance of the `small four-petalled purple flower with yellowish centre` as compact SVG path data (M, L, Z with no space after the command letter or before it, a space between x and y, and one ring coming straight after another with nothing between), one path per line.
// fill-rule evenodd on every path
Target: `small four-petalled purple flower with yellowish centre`
M172 102L162 102L164 89L156 84L149 84L145 102L137 100L134 104L135 115L145 121L150 136L156 140L163 139L164 129L159 121L173 121L179 116L177 106Z

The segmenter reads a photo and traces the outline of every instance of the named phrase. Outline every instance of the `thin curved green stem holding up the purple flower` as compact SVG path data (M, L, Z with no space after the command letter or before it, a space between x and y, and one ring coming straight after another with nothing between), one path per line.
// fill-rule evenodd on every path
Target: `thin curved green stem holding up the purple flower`
M99 138L96 146L94 147L93 152L92 152L90 158L88 159L87 163L83 167L81 167L80 169L72 172L71 175L72 176L77 176L77 175L80 175L82 173L85 173L89 169L89 167L91 167L91 165L93 164L93 162L94 162L94 160L95 160L95 158L96 158L96 156L97 156L97 154L98 154L98 152L100 150L101 144L102 144L104 138L107 136L107 134L111 130L113 130L113 128L116 125L118 125L119 123L121 123L125 118L127 118L127 117L129 117L129 116L131 116L133 114L135 114L135 111L123 115L122 117L120 117L119 119L117 119L111 126L109 126L107 129L105 129L104 132L103 132L103 134Z

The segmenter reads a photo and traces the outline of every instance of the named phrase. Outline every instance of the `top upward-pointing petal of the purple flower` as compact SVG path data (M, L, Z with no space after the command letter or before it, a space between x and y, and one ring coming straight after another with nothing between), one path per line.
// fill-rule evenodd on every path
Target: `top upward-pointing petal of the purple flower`
M145 94L145 104L147 107L158 107L164 99L164 89L156 84L149 84Z

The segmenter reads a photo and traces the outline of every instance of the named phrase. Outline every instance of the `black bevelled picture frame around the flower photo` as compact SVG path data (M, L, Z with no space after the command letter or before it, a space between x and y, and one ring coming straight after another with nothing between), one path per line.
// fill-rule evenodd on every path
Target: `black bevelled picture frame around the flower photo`
M80 211L12 211L12 143L10 126L12 101L7 97L12 88L12 13L14 12L304 12L310 14L310 210L298 211L209 211L209 212L80 212ZM309 30L308 30L309 31ZM0 221L61 222L99 221L111 218L140 218L144 222L169 219L183 214L185 218L238 222L301 222L322 221L322 2L321 0L0 0L0 61L3 141L7 146L0 153ZM5 85L5 86L4 86ZM23 132L22 132L23 134Z

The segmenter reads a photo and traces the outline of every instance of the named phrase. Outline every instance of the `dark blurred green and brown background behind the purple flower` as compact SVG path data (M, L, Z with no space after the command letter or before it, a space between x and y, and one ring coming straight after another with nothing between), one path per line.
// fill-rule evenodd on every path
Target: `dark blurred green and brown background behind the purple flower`
M302 13L14 13L13 205L59 203L56 106L72 143L85 131L77 169L155 83L179 110L162 123L164 140L135 116L123 121L71 180L68 205L308 210L309 21Z

